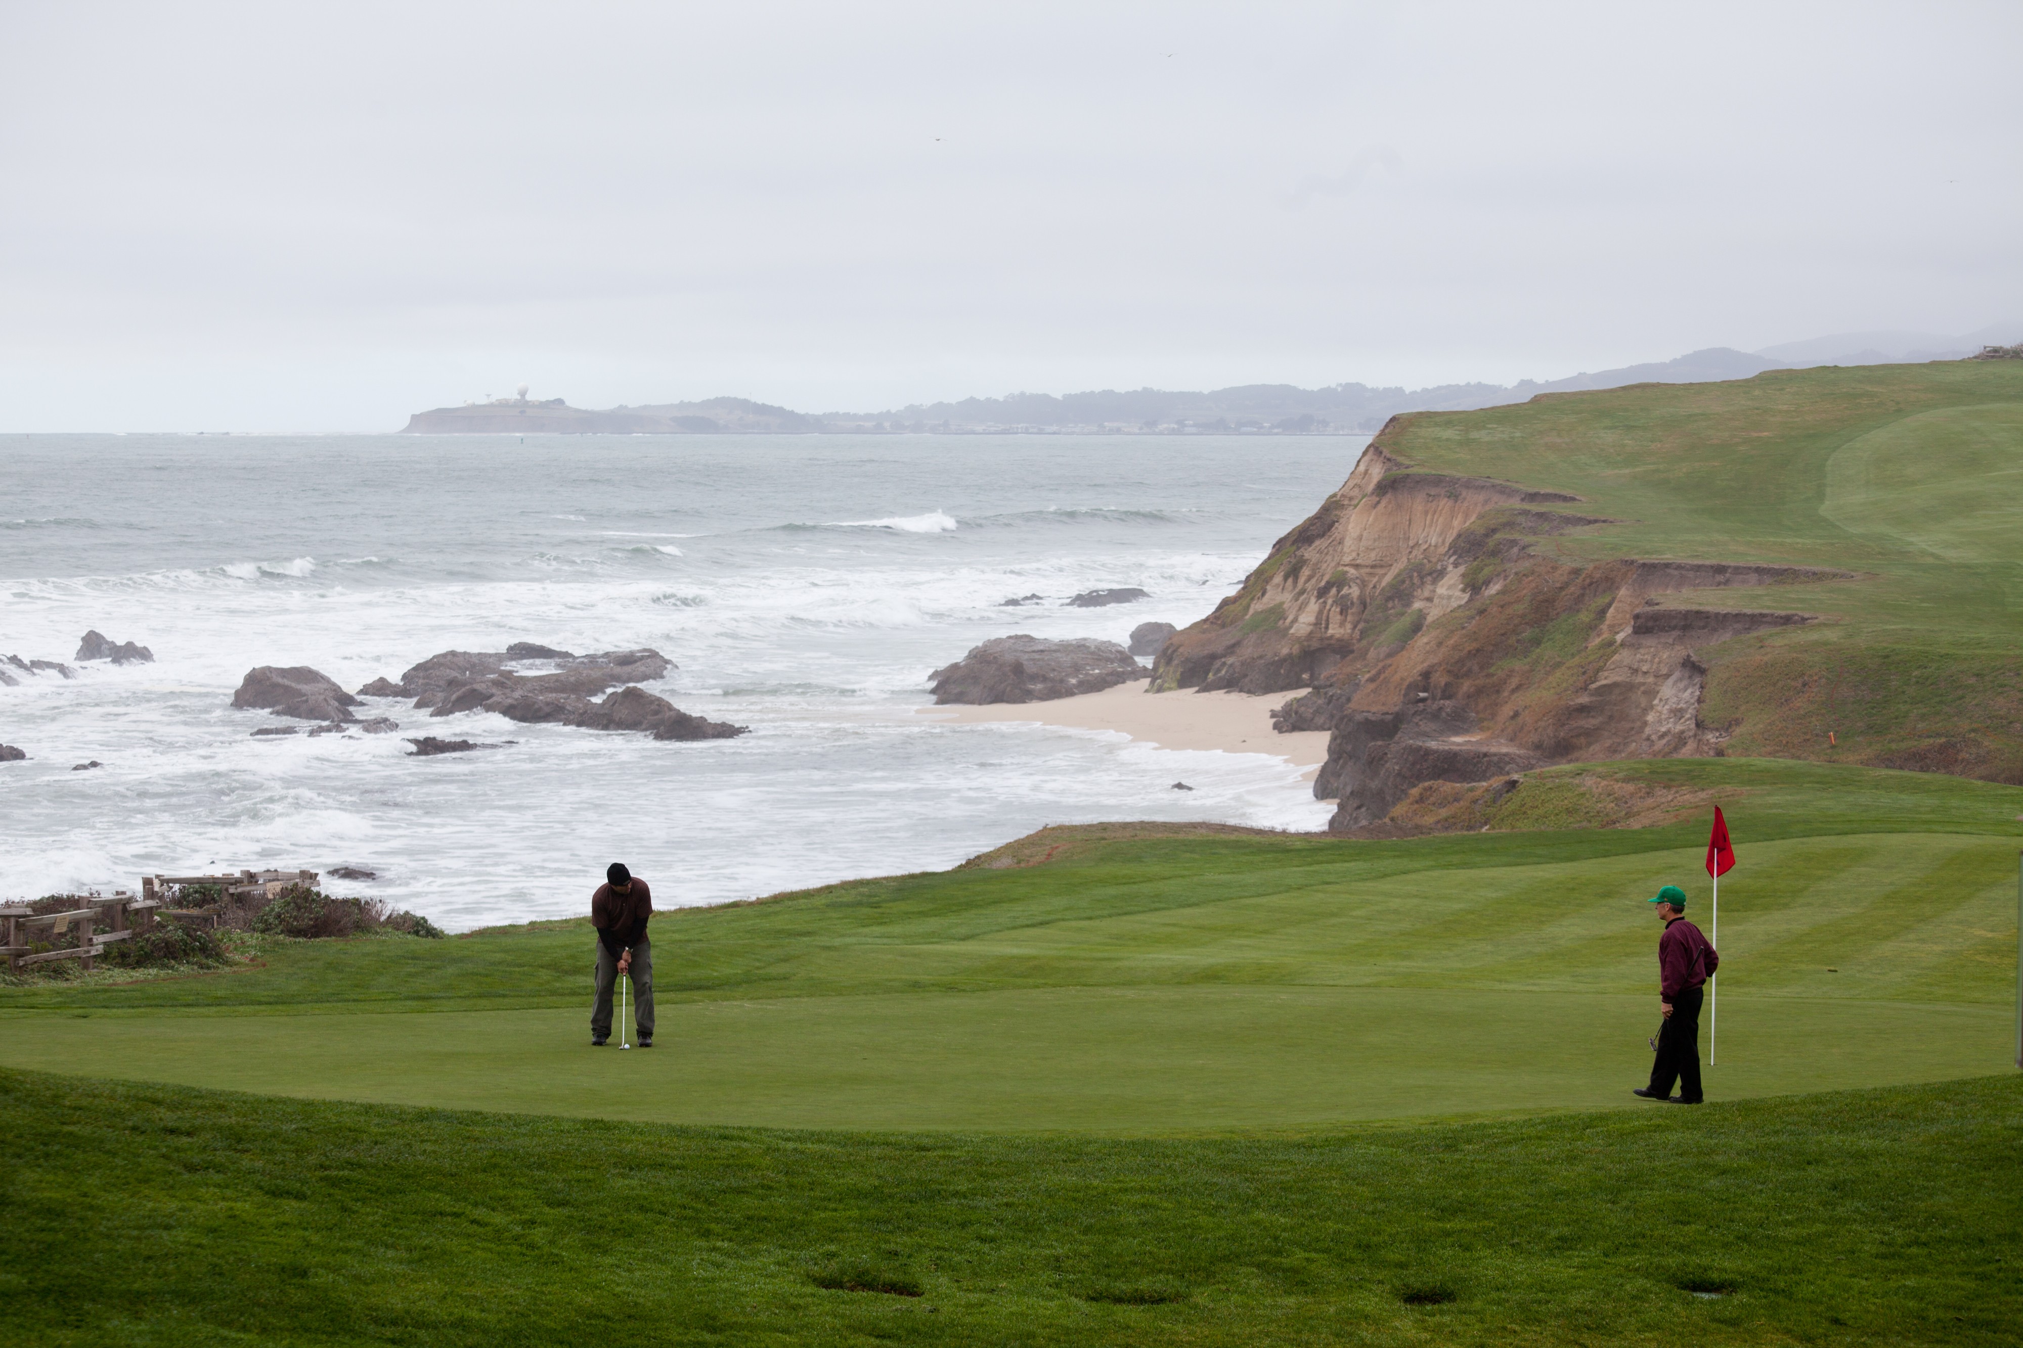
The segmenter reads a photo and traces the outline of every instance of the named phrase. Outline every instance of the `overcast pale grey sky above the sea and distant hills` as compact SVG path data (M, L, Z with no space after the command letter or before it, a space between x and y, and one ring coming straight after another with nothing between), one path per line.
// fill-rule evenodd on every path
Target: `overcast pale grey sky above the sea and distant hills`
M2015 0L8 0L0 428L1968 331L2023 315L2019 65Z

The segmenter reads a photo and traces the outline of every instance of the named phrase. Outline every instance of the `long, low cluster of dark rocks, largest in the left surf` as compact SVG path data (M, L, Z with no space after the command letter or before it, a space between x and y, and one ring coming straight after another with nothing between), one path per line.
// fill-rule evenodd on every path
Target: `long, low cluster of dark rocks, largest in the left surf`
M631 730L653 740L730 740L746 732L633 687L672 669L674 661L653 649L570 655L522 641L504 651L439 651L409 667L399 683L374 679L358 691L413 697L415 709L429 715L496 711L510 721ZM601 693L609 695L593 701Z

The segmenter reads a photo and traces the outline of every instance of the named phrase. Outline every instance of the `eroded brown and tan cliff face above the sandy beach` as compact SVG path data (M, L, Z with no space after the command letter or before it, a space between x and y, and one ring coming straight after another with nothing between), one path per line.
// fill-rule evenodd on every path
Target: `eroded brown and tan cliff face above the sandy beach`
M1792 566L1564 564L1533 540L1590 523L1576 497L1414 473L1382 447L1216 610L1167 641L1153 689L1311 685L1285 728L1331 730L1315 796L1331 829L1382 821L1416 784L1578 758L1722 752L1695 655L1811 622L1802 612L1667 608L1679 590L1845 578Z

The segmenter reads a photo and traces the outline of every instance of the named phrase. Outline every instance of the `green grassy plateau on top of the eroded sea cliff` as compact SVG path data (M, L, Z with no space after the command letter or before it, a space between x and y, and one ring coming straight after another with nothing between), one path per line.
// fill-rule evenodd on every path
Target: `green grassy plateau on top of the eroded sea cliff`
M1402 416L1416 469L1578 495L1606 515L1572 558L1772 562L1861 572L1724 590L1871 639L2015 651L2023 639L2023 362L1825 366L1728 384L1639 384ZM1778 641L1845 641L1794 633Z

